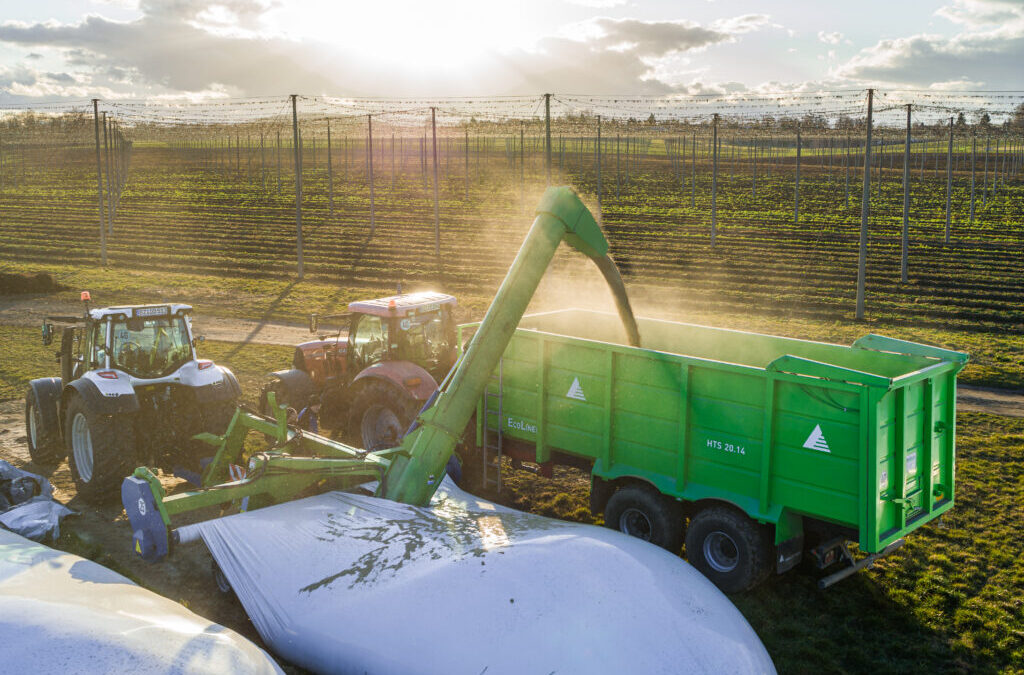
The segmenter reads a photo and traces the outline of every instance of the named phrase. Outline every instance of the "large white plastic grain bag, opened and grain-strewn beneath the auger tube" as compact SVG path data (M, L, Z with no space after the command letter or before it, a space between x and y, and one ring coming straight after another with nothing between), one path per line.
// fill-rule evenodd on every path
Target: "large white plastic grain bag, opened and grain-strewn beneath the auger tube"
M678 556L449 480L429 508L334 492L198 526L267 644L316 672L774 672Z

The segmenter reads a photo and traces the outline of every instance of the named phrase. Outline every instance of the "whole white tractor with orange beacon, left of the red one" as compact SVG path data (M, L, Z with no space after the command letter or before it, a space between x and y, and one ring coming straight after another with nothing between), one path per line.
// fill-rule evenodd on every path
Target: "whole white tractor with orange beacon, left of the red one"
M209 446L193 439L220 434L237 407L234 375L198 358L186 304L89 308L83 317L47 317L43 344L53 341L60 377L29 385L25 422L36 464L66 456L78 493L114 499L135 466L159 466L199 483Z

